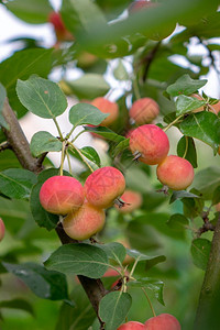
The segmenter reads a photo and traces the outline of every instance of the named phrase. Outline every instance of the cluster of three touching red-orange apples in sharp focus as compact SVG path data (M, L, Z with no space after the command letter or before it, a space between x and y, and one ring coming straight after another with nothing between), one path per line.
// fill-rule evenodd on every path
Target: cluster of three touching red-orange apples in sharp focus
M70 176L53 176L41 187L42 207L64 216L63 228L74 240L87 240L99 232L106 220L105 209L123 194L123 174L111 166L98 168L86 179L85 186Z

